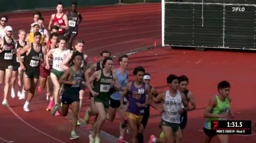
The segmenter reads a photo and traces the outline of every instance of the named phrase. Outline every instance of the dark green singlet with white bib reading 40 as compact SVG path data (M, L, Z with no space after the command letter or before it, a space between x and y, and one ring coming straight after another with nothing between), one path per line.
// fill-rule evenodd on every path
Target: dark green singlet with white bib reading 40
M99 93L99 96L101 98L109 99L109 91L111 87L111 81L113 80L113 73L110 72L110 76L106 77L103 74L103 70L101 70L100 79L98 81L93 81L94 91Z

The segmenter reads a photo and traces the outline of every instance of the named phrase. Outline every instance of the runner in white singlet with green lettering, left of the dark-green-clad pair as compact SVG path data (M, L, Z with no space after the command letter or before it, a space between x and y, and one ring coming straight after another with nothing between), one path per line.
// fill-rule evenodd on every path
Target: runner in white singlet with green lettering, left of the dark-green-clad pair
M49 57L52 55L53 56L53 65L52 65L52 70L51 70L51 80L54 85L54 93L53 93L53 99L54 99L54 104L59 103L59 91L61 85L59 84L59 79L61 75L64 73L64 70L60 68L61 64L63 63L64 59L67 57L67 55L70 53L69 49L66 49L66 42L67 39L60 35L58 37L58 48L51 49L49 52L46 54L46 66L45 69L49 70L50 69L50 61Z

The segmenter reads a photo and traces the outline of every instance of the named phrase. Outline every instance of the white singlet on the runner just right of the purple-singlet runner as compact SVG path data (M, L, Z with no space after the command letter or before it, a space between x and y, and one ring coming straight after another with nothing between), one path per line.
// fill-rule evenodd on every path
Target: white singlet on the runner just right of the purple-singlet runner
M181 115L178 110L182 108L181 93L177 91L175 97L170 95L170 91L165 92L165 101L163 103L162 119L169 123L181 123Z

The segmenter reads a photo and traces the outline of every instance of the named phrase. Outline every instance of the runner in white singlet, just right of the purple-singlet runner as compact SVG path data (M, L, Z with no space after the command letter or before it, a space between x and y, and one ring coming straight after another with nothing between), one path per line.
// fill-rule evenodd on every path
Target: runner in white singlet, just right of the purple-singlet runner
M165 142L181 142L181 114L188 111L188 102L185 95L179 92L178 77L170 74L167 77L168 91L159 94L153 99L154 102L163 101L163 114L161 117L161 127L164 132ZM151 136L149 142L160 142L155 136Z

